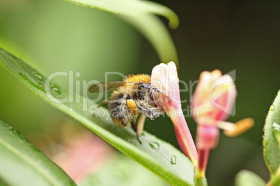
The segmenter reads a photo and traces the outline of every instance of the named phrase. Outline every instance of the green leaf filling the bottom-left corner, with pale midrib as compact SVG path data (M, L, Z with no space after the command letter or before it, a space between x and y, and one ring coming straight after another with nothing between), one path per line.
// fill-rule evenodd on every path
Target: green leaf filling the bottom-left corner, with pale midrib
M0 120L0 185L76 185L46 155Z

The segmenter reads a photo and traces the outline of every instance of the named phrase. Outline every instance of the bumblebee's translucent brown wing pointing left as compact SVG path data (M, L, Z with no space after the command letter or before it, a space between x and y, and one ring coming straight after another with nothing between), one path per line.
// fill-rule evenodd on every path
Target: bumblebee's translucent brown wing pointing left
M105 93L113 92L118 87L124 85L131 85L135 83L139 83L139 82L123 82L123 81L102 82L102 83L92 85L91 87L89 87L88 91L91 93L105 94Z

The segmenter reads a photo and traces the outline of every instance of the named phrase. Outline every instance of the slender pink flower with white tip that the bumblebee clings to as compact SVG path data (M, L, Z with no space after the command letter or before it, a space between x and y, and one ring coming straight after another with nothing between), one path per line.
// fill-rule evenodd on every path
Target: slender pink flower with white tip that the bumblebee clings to
M198 155L182 113L179 79L174 62L169 62L168 65L162 63L155 66L151 75L151 84L164 93L153 91L155 104L171 118L180 148L196 166Z

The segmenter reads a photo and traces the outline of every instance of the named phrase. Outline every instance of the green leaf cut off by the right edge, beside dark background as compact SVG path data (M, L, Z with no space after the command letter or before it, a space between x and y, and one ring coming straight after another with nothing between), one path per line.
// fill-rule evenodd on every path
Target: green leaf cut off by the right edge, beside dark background
M265 120L265 135L263 137L263 156L270 173L277 171L280 164L280 91L270 106L270 111Z

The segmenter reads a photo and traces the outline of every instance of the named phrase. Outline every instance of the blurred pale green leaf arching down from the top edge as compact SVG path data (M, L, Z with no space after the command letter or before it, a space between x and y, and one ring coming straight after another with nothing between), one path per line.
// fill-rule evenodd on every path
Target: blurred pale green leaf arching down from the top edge
M178 65L178 56L173 40L166 27L158 17L160 15L169 19L169 26L177 28L179 19L177 15L159 3L139 0L65 0L89 8L97 8L114 12L126 22L137 28L157 51L161 62L174 61Z

